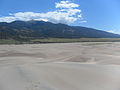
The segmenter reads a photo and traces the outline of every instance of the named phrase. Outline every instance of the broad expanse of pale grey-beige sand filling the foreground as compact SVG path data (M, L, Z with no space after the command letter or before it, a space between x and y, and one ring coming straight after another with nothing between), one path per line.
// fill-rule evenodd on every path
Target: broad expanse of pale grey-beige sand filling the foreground
M120 43L0 45L0 90L120 90Z

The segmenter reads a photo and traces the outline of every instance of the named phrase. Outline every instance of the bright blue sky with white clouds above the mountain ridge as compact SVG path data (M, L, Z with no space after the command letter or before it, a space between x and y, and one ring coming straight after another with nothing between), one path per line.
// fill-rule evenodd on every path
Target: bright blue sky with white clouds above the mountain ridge
M120 0L0 0L0 22L43 20L120 34Z

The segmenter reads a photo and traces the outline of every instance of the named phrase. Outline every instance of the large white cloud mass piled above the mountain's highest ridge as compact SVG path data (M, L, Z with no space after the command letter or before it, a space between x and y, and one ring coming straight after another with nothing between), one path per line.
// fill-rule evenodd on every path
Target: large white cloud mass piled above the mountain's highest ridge
M80 5L72 3L70 1L60 1L55 3L56 10L46 13L35 12L17 12L10 13L9 16L0 17L0 22L12 22L15 20L29 21L49 21L52 23L64 23L71 24L77 20L82 20L81 10L78 9ZM84 21L81 21L84 22Z

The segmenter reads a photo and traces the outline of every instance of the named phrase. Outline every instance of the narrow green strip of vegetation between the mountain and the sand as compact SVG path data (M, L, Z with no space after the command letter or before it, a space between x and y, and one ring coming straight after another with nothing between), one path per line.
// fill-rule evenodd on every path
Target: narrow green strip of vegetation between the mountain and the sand
M39 43L72 43L72 42L120 42L120 38L43 38L43 39L0 39L0 44L39 44Z

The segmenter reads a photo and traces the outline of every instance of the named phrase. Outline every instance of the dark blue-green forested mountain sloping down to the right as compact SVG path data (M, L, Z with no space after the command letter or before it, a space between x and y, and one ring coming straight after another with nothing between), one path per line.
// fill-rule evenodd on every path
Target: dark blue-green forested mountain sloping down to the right
M0 39L17 38L119 38L97 29L44 21L0 22Z

